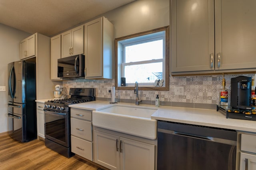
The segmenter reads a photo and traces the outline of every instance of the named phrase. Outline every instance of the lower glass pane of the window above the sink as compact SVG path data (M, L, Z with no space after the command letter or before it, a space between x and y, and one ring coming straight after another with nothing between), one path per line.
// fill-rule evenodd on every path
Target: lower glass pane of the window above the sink
M124 77L126 83L154 83L156 79L162 79L162 69L162 62L125 66Z

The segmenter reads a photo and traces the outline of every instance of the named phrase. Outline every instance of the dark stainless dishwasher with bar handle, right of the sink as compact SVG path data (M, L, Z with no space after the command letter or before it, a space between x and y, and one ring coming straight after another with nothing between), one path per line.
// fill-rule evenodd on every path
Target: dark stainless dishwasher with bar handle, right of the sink
M158 170L235 170L237 132L158 121Z

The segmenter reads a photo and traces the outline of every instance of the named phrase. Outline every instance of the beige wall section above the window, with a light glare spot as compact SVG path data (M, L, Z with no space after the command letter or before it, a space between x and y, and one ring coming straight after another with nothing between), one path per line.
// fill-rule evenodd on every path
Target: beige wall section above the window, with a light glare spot
M169 10L169 0L136 0L100 16L114 24L118 38L169 25Z

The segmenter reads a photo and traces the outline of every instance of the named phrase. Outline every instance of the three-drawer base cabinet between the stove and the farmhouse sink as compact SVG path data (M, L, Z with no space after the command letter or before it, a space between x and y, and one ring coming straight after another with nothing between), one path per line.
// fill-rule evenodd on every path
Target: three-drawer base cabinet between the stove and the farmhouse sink
M71 108L71 151L93 160L92 111Z

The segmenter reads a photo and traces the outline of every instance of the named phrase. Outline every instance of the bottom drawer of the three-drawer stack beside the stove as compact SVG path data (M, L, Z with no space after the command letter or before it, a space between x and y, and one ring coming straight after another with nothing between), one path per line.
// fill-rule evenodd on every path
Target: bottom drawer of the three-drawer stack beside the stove
M88 160L92 160L92 143L71 136L71 151Z

